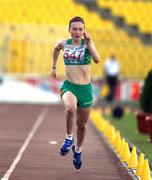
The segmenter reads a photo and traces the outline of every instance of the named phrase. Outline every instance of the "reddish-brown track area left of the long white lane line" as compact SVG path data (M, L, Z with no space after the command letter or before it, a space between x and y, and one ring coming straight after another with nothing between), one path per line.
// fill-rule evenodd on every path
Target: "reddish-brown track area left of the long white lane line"
M42 108L11 104L0 116L0 177L13 162Z

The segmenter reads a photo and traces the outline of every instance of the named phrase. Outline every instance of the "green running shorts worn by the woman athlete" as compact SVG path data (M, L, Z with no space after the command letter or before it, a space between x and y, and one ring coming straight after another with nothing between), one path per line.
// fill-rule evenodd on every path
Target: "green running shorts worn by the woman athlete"
M67 91L72 92L77 98L77 106L80 108L89 108L93 102L92 85L89 84L75 84L65 80L60 88L61 97Z

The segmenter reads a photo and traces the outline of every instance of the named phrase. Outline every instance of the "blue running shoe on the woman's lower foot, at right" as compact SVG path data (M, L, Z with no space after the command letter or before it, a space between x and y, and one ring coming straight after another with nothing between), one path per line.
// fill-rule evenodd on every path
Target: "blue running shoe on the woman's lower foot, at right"
M72 151L73 151L73 165L76 169L80 169L82 165L81 152L80 153L75 152L75 145L72 146Z

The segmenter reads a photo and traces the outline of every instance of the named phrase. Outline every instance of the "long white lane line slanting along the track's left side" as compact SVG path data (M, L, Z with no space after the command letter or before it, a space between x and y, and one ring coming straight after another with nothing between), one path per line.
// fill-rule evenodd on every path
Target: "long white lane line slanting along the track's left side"
M23 155L24 151L26 150L27 146L29 145L31 139L33 138L33 136L35 135L36 131L40 127L41 123L43 122L43 120L44 120L44 118L46 116L47 110L48 109L46 109L46 108L43 109L43 111L40 113L40 115L36 119L36 122L33 125L33 128L29 132L29 134L28 134L26 140L24 141L22 147L20 148L16 158L14 159L13 163L11 164L9 169L6 171L4 176L1 178L1 180L8 180L9 179L10 175L12 174L12 172L16 168L17 164L19 163L20 159L22 158L22 155Z

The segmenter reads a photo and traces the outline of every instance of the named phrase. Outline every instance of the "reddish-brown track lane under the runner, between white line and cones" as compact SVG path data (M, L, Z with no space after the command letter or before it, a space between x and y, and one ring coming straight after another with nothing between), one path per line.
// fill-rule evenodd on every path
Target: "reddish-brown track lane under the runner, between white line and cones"
M33 108L35 106L30 108L32 112ZM62 157L58 152L65 136L64 109L62 106L53 105L48 105L48 108L45 120L29 143L10 180L132 179L90 124L83 147L83 166L76 170L72 164L72 153ZM30 123L26 118L24 121ZM32 124L30 123L30 126ZM57 144L50 144L50 141L57 141Z

